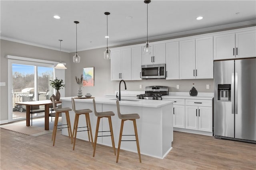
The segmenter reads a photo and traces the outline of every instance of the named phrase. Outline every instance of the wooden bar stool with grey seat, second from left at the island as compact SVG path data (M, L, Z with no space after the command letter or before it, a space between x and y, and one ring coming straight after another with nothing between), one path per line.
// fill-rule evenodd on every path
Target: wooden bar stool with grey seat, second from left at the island
M90 142L90 139L92 139L92 128L91 128L90 115L89 115L89 113L92 113L92 110L90 110L90 109L76 110L76 104L75 104L74 98L71 98L71 101L72 101L72 108L73 108L74 112L76 113L74 127L73 127L73 142L74 142L73 150L74 150L75 145L76 145L76 133L77 132L87 131L89 142ZM78 127L78 120L79 120L80 115L85 115L85 120L86 120L85 127ZM77 131L78 128L87 128L87 130ZM89 132L90 132L91 137L89 135ZM92 139L92 147L93 147L93 139Z

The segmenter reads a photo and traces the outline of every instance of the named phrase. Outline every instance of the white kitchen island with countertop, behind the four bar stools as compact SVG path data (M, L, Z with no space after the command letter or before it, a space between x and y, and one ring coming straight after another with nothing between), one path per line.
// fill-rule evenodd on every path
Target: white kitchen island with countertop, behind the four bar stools
M72 97L61 98L62 107L70 107ZM76 98L76 97L74 97ZM94 115L94 108L92 99L75 99L76 109L91 109L90 121L92 126L93 137L95 135L97 117ZM120 133L121 120L117 115L116 100L114 98L95 98L96 109L101 111L113 111L115 113L112 116L112 126L114 133L115 146L118 146L118 139ZM173 127L172 127L172 102L170 101L155 101L155 100L121 100L120 112L126 113L138 113L140 119L136 119L138 138L140 143L140 153L156 158L164 158L168 152L172 149L173 141ZM64 117L65 115L62 114ZM74 125L74 111L70 111L70 122L73 128ZM62 119L65 122L66 119ZM84 117L80 116L78 127L85 127L86 121ZM109 131L108 119L103 118L100 122L99 131ZM62 134L68 136L68 131L62 129ZM103 132L102 135L109 135L109 132ZM134 127L132 121L124 123L123 135L134 135ZM88 141L87 132L78 132L77 139ZM123 136L122 140L135 140L134 136ZM98 137L98 144L112 147L110 137ZM88 144L90 145L90 144ZM136 142L127 141L121 143L121 149L131 152L137 152ZM97 152L97 150L96 150Z

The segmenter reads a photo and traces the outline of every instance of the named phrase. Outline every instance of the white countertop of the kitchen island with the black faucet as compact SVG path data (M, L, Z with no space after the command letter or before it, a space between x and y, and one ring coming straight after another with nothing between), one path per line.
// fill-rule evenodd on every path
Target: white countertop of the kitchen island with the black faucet
M62 101L71 101L72 97L64 97L60 98ZM77 96L73 97L77 98ZM115 98L95 98L96 103L101 104L116 104ZM127 101L129 100L129 101ZM135 99L136 101L130 101L131 99L121 98L121 101L119 101L120 105L126 105L126 106L140 106L140 107L162 107L168 104L172 104L172 101L167 100L140 100ZM75 99L76 102L88 102L92 103L92 99Z

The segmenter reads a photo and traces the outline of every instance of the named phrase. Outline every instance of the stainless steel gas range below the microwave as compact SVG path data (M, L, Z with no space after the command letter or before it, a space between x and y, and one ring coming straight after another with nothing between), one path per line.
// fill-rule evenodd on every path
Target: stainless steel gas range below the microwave
M162 100L162 96L169 94L168 90L167 86L146 86L145 94L137 95L137 99Z

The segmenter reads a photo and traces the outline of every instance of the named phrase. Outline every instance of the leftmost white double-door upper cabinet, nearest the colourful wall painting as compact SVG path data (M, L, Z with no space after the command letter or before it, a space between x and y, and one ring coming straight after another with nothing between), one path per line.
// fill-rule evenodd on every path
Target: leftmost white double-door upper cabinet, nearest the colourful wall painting
M131 48L113 50L111 54L111 80L131 80Z

